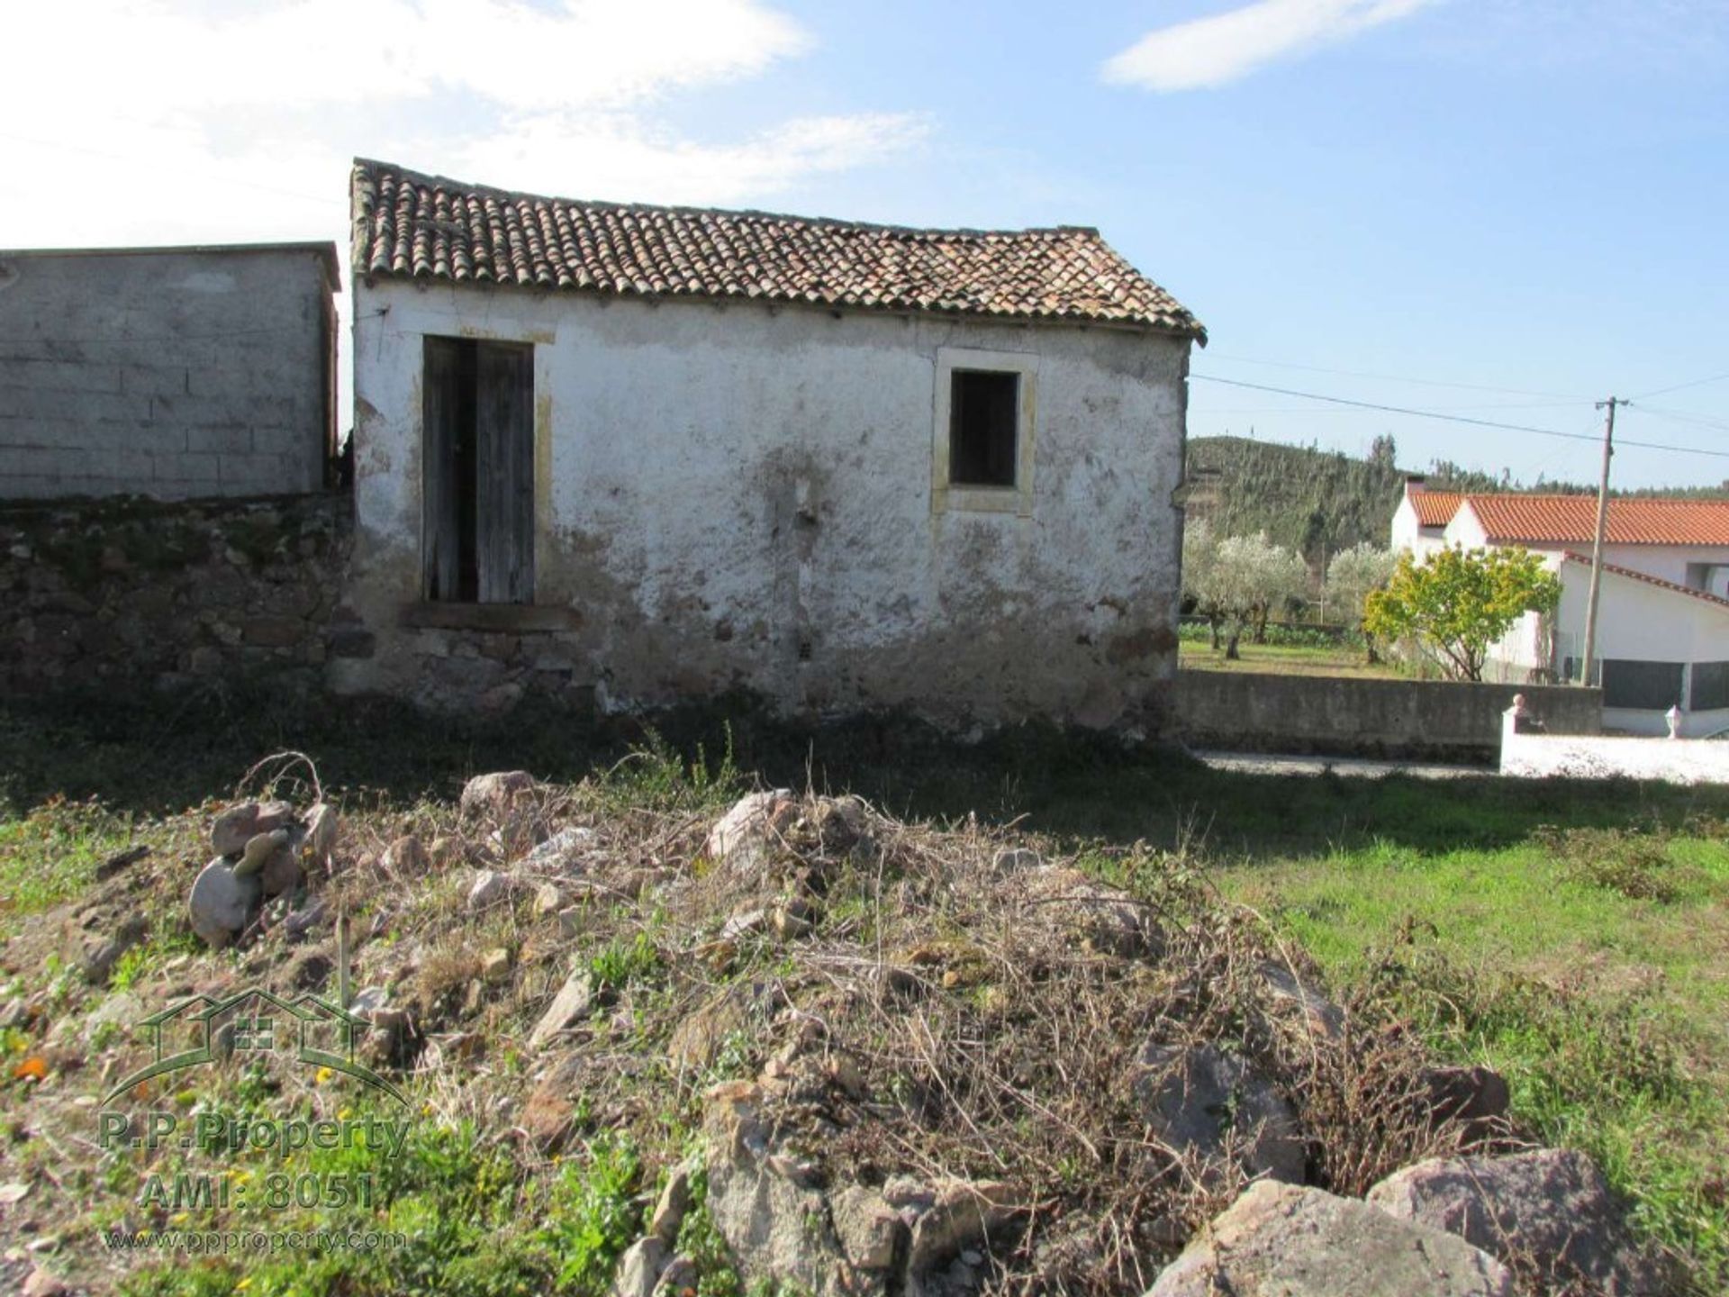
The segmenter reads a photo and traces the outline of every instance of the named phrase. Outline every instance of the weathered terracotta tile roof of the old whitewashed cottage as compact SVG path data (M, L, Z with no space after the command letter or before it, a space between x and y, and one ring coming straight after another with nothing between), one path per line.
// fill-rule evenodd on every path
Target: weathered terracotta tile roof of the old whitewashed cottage
M360 275L1207 330L1098 230L909 230L512 194L354 161Z

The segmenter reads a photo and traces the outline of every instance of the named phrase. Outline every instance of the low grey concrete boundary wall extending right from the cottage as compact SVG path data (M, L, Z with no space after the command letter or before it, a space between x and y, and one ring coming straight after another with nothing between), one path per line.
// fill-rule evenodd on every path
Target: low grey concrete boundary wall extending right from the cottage
M1515 693L1551 733L1601 730L1596 688L1247 671L1179 671L1177 725L1191 747L1492 764Z

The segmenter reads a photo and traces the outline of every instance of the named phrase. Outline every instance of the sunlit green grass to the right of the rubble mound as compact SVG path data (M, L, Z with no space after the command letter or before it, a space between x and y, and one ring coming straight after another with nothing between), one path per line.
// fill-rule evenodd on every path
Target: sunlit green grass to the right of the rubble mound
M1219 877L1335 982L1387 982L1437 1048L1501 1070L1542 1141L1592 1153L1701 1290L1729 1287L1722 821L1378 840Z

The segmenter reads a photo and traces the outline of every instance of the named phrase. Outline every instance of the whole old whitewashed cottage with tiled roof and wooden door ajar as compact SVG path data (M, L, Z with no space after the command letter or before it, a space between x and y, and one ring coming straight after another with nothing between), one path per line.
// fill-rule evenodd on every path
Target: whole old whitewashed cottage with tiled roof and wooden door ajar
M1158 728L1205 334L1096 230L351 201L337 688Z

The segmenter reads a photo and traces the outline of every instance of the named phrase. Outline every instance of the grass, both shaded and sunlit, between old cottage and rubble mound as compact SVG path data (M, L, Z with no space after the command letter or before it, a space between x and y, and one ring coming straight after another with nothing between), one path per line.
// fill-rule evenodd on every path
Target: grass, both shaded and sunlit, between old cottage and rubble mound
M1729 789L1243 775L1036 726L956 747L904 719L813 733L724 706L662 732L711 763L730 749L764 783L849 789L906 818L1018 821L1101 861L1136 842L1186 853L1338 993L1392 998L1440 1051L1501 1069L1528 1133L1594 1153L1700 1292L1729 1290ZM12 704L0 930L275 751L311 754L344 799L406 808L451 801L477 770L574 780L647 738L230 695Z

